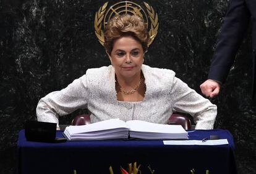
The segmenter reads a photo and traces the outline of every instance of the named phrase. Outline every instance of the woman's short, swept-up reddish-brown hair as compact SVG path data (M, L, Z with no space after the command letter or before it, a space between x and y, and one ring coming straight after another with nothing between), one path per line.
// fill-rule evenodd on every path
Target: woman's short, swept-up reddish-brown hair
M142 44L143 51L148 50L148 30L143 19L137 15L116 15L109 20L105 28L104 47L110 54L113 49L114 41L123 36L132 36Z

